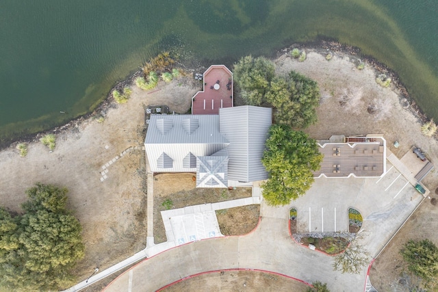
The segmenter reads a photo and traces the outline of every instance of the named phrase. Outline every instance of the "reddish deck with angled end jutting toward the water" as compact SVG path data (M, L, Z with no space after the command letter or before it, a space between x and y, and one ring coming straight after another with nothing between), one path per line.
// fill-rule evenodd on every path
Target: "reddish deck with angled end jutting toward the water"
M224 65L212 65L204 73L203 91L192 98L192 114L219 114L222 107L233 107L233 74Z

